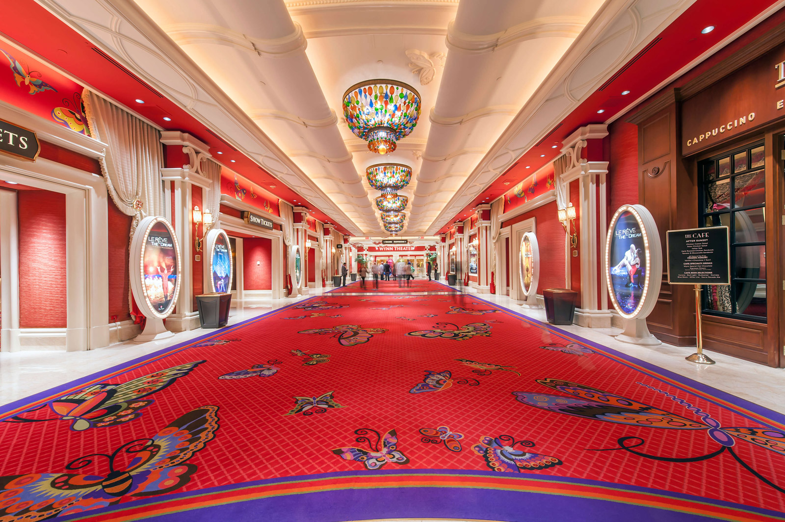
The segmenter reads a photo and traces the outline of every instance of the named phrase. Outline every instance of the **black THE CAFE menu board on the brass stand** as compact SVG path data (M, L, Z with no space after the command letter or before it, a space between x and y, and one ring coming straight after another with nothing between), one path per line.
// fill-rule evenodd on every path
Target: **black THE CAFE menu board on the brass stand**
M728 227L668 230L671 285L730 285Z

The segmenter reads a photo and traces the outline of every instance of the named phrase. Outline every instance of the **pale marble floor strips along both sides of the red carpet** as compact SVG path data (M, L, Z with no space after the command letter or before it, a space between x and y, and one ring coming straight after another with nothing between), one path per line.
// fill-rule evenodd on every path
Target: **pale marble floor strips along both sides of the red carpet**
M473 289L463 289L468 293L474 293ZM330 288L326 288L326 290L330 290ZM311 293L306 296L271 299L270 303L265 306L232 310L229 324L245 321L298 300L307 299L312 295L319 295L322 292L320 288L312 288ZM538 321L545 321L544 310L524 309L520 306L520 301L507 296L481 294L478 297ZM711 352L707 353L714 361L717 361L717 364L710 366L693 364L684 359L695 351L692 347L672 346L664 343L661 346L647 347L620 343L613 338L613 335L621 333L619 328L582 328L577 325L560 326L559 328L621 353L637 357L641 361L655 364L660 368L670 370L670 372L732 393L765 408L785 413L785 401L782 401L783 393L785 393L785 379L783 379L785 369L783 368L769 368L761 364ZM0 404L8 404L34 393L48 390L53 386L79 379L105 368L111 368L116 364L131 361L167 346L204 335L206 332L196 329L190 332L180 332L169 339L154 343L140 344L126 341L85 352L0 352Z

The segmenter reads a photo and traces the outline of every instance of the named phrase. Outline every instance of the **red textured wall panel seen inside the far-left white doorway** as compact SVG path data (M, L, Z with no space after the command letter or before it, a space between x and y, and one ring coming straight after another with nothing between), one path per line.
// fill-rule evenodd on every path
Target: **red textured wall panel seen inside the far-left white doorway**
M20 328L65 328L65 194L49 190L16 194Z

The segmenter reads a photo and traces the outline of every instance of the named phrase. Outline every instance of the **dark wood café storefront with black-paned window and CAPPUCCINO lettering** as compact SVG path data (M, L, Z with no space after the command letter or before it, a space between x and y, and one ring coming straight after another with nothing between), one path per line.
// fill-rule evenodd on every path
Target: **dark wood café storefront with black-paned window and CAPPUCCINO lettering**
M639 198L666 230L730 224L731 287L704 287L703 343L774 367L783 355L785 28L667 89L627 118L638 128ZM667 274L648 327L695 343L692 287Z

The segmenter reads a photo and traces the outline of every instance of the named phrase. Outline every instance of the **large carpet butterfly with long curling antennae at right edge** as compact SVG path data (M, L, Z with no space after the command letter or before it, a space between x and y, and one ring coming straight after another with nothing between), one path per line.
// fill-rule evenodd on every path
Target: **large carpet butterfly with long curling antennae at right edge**
M681 415L676 415L670 411L665 411L660 408L655 408L649 404L609 393L602 390L597 390L591 386L585 386L576 382L569 382L560 379L538 379L537 382L543 386L548 386L553 390L558 390L567 395L551 395L549 393L528 393L528 392L513 392L517 401L534 406L541 410L553 411L564 415L572 415L574 417L581 417L583 419L594 419L603 422L613 422L615 424L623 424L626 426L644 426L648 428L655 428L659 430L706 430L707 435L720 444L720 448L712 451L707 455L697 455L696 457L686 458L670 458L659 455L649 455L643 451L636 450L643 446L646 441L641 437L620 437L617 440L619 448L604 448L601 450L593 451L615 451L622 450L633 453L646 459L654 459L664 462L699 462L702 460L713 459L723 452L728 453L739 462L744 469L752 473L754 477L775 488L780 493L785 493L785 489L774 484L771 480L763 477L760 473L755 471L752 466L743 461L739 454L733 450L737 440L746 440L754 444L758 448L765 448L769 451L774 451L777 455L785 457L785 433L780 430L773 430L770 428L748 428L748 427L730 427L725 428L720 425L717 419L711 417L706 411L689 404L687 401L676 397L663 390L659 390L652 386L637 382L641 386L645 386L650 390L655 390L658 393L663 393L672 401L681 404L692 411L696 419L688 419ZM785 462L783 462L785 465Z

